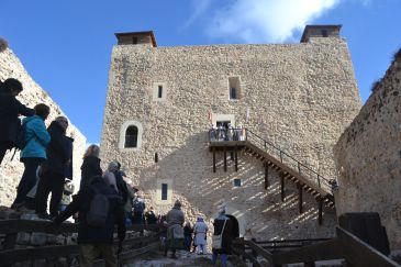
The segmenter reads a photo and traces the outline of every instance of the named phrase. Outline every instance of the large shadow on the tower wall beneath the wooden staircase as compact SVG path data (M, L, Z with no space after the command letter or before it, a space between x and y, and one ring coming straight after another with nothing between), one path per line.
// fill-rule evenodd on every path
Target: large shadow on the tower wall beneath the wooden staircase
M213 173L212 153L209 152L208 132L187 138L181 147L168 144L157 151L158 163L138 174L140 187L152 196L149 202L161 213L167 212L175 199L183 203L189 221L194 222L201 214L211 225L218 207L226 205L227 214L238 221L240 235L250 227L261 238L307 238L334 236L335 211L324 209L323 225L318 224L318 202L303 193L303 213L299 214L298 189L286 181L285 201L280 198L278 173L269 169L269 188L264 189L263 163L245 152L238 153L238 171L227 153L227 171L223 170L223 153L216 155L216 173ZM171 201L156 201L161 192L157 182L172 180ZM241 186L234 186L241 179Z

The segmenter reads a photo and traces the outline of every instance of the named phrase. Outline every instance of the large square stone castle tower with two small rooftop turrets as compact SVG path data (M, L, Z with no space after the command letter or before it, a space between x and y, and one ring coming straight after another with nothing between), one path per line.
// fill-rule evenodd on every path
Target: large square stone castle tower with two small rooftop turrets
M307 26L299 44L178 47L158 47L153 32L116 34L104 165L120 160L159 213L180 199L188 221L210 223L224 203L240 235L333 235L333 146L361 107L339 29ZM212 123L247 137L211 143Z

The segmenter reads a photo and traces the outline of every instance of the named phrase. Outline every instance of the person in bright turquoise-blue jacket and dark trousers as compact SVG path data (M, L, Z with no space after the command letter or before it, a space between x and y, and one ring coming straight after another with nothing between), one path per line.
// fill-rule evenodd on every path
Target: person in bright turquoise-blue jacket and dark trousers
M26 193L35 186L36 169L46 159L46 147L51 142L51 135L44 122L51 109L46 104L40 103L35 105L34 110L35 115L22 120L26 145L21 151L20 159L25 169L18 186L16 198L11 205L15 210L24 205Z

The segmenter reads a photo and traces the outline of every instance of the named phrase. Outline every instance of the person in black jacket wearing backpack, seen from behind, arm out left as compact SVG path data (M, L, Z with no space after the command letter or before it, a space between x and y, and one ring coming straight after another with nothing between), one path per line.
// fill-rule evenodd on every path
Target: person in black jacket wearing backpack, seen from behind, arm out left
M91 226L87 223L87 214L91 201L97 193L107 196L109 200L109 213L103 226ZM91 183L80 190L66 210L55 218L56 224L62 223L78 212L78 244L81 249L80 266L92 266L98 254L102 254L105 266L116 266L113 252L114 225L118 225L120 243L125 238L124 207L121 197L111 188L101 176L91 179Z

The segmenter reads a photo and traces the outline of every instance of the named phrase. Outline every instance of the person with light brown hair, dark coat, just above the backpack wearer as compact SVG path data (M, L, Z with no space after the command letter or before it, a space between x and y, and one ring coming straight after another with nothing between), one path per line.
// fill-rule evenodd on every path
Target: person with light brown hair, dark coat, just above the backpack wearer
M101 176L103 174L100 168L99 158L100 148L97 145L88 146L85 155L83 163L81 166L81 181L79 185L79 190L90 185L90 180L94 176Z

